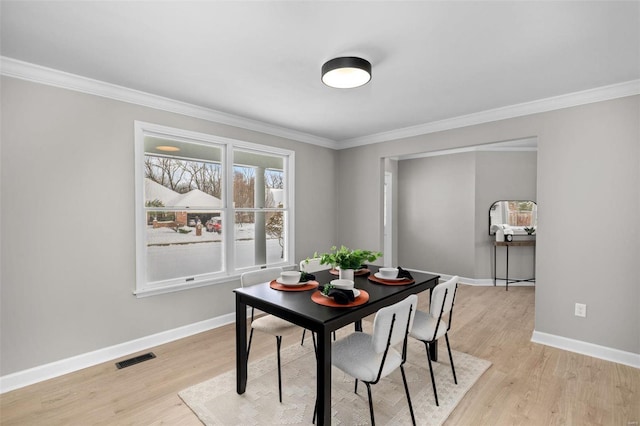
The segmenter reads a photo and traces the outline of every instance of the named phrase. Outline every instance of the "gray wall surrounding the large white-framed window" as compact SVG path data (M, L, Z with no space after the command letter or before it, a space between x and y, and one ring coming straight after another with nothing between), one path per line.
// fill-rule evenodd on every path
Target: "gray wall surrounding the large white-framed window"
M134 120L295 150L295 260L334 242L309 208L333 202L333 150L7 77L1 106L2 375L234 312L239 282L132 294Z

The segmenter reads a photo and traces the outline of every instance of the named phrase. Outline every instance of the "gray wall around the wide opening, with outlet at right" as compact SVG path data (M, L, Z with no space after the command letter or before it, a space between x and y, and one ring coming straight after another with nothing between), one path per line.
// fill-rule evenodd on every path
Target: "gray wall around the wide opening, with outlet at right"
M536 331L640 353L639 117L630 96L343 150L340 239L381 247L381 158L537 137Z

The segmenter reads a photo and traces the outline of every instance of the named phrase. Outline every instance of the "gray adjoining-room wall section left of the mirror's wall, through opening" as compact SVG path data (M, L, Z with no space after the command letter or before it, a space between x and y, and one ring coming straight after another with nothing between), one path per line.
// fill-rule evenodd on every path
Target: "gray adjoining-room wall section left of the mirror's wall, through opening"
M474 192L474 153L400 161L399 264L448 275L473 275Z

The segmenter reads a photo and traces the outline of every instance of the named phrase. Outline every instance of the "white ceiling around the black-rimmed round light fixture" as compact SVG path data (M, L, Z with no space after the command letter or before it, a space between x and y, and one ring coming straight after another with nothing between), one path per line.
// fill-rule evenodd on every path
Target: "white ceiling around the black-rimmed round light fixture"
M640 78L640 2L7 1L3 58L348 144ZM322 64L361 56L357 89Z

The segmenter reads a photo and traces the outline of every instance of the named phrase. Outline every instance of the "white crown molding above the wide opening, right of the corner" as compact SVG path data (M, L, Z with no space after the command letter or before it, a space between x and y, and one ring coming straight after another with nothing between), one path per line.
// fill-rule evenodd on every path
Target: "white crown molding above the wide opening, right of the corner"
M391 130L389 132L376 133L353 139L345 139L340 142L338 149L354 148L362 145L426 135L429 133L442 132L444 130L458 129L476 124L522 117L525 115L554 111L633 95L640 95L640 80L631 80L624 83L583 90L581 92L490 109L460 117Z

